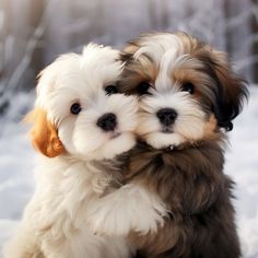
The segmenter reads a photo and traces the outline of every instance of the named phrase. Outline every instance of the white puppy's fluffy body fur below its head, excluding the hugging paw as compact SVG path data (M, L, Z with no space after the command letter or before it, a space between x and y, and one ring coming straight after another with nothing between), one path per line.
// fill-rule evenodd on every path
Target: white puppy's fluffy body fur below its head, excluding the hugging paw
M109 177L91 163L70 157L39 157L38 164L35 195L4 257L130 257L124 238L93 235L86 223L86 213L97 203Z

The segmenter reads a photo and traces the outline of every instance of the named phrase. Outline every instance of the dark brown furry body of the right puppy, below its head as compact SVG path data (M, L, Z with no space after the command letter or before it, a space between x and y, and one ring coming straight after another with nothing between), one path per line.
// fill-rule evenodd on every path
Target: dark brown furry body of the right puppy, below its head
M142 257L239 257L232 181L222 173L223 163L214 140L173 151L140 143L131 151L127 180L148 186L171 211L157 232L130 235Z

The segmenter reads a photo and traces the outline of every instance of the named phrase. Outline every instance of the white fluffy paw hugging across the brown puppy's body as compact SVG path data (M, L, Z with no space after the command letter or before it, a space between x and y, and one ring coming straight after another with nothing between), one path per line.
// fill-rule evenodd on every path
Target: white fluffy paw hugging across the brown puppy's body
M87 221L96 234L125 236L134 231L144 235L163 226L166 215L165 204L156 196L128 185L102 198Z

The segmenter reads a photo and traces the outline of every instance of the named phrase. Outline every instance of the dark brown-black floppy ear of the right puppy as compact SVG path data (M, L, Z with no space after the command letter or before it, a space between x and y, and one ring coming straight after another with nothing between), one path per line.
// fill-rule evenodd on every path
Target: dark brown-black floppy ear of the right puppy
M242 112L244 101L248 97L248 91L245 81L232 71L225 54L213 51L212 56L214 80L218 84L214 115L218 125L230 131L233 129L232 120Z

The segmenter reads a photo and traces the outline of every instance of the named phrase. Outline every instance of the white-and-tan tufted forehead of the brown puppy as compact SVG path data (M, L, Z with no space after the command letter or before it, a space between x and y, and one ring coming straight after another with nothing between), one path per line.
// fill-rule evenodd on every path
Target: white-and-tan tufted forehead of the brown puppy
M134 43L131 42L131 48L129 46L126 51L133 51L133 59L140 63L141 69L150 71L153 67L155 74L149 74L149 78L155 81L156 87L167 87L171 81L178 79L178 75L181 78L178 72L181 69L188 70L184 74L186 77L189 69L203 68L203 63L196 55L203 45L183 33L142 35Z

